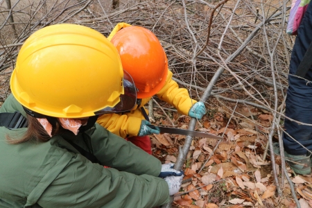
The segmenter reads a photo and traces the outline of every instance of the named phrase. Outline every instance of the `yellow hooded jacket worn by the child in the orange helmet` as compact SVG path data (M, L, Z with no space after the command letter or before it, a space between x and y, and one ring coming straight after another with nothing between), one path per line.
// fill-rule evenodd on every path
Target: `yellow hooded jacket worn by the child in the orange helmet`
M115 26L112 33L110 33L108 40L112 40L112 37L121 30L123 27L130 26L130 24L119 23ZM180 114L187 115L191 106L197 103L197 101L189 97L189 92L185 88L179 88L177 83L172 80L173 73L168 71L166 83L162 89L156 94L159 99L173 105ZM144 98L141 100L139 106L134 107L131 112L123 114L103 114L98 117L97 123L104 128L113 132L120 137L133 137L137 136L141 126L141 121L144 119L144 115L141 112L140 107L143 107L151 98ZM145 108L144 108L145 109ZM146 109L145 109L146 110ZM146 110L148 113L148 111Z

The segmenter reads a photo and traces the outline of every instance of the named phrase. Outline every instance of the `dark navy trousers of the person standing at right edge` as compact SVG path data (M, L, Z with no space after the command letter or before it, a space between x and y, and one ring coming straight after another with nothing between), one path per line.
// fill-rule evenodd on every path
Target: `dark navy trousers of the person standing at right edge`
M312 67L308 73L302 78L293 76L300 61L304 57L304 53L312 42L312 1L304 14L298 35L295 39L293 51L291 53L291 64L288 75L288 89L286 98L286 116L302 123L312 124ZM311 56L312 57L312 56ZM307 149L312 150L312 126L299 125L293 121L285 119L284 128L286 132L294 139L300 142ZM291 155L306 155L307 151L297 144L286 134L283 134L284 148Z

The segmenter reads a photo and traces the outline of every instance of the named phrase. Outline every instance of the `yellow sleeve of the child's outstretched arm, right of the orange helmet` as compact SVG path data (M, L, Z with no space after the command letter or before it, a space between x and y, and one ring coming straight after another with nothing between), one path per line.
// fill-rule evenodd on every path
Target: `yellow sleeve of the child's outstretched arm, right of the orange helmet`
M172 79L173 73L168 71L166 83L156 94L159 99L173 105L177 112L187 115L191 106L197 103L189 97L189 92L185 88L179 88L179 85Z

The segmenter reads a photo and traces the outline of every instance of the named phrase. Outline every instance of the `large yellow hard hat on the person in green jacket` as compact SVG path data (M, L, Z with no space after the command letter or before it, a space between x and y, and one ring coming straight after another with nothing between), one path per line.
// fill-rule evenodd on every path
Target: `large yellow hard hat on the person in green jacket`
M123 83L128 83L125 88L134 103L128 99L127 106L116 109ZM47 26L28 37L17 56L10 87L26 109L58 118L94 116L103 109L126 111L136 99L131 77L123 81L114 45L92 28L75 24Z

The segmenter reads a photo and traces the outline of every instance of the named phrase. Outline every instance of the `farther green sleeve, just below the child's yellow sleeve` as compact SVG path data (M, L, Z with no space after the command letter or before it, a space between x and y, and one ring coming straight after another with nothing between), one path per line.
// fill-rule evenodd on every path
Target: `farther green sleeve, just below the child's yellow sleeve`
M162 164L153 155L129 141L105 130L96 123L96 131L90 135L94 156L105 166L119 171L158 176Z

